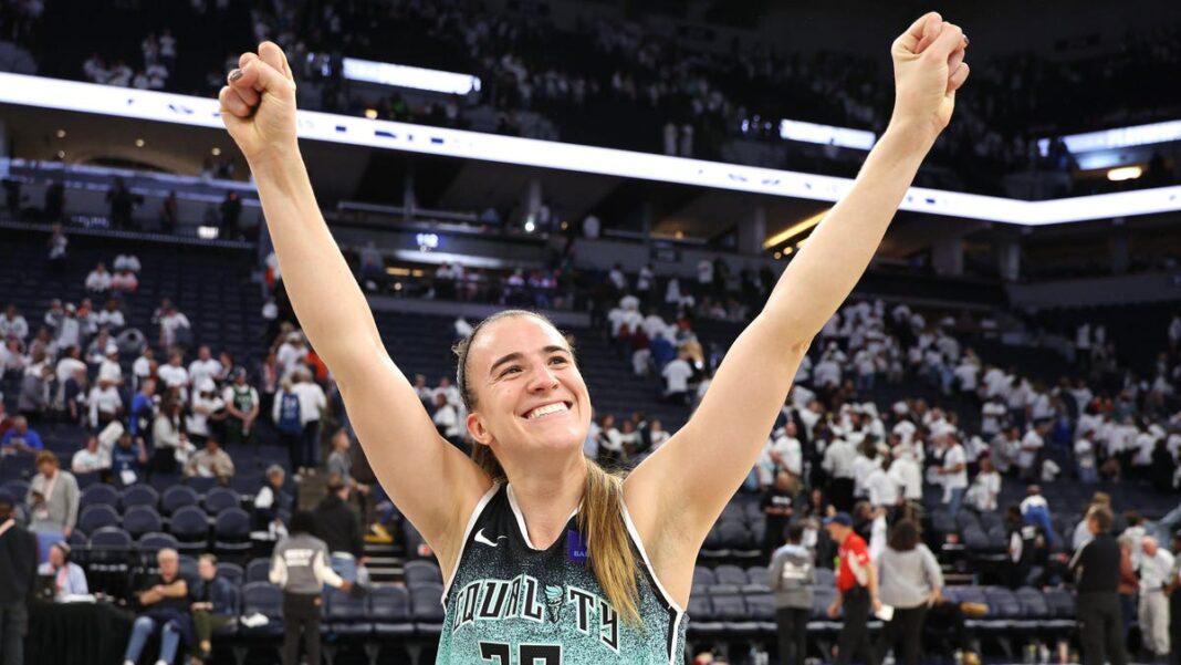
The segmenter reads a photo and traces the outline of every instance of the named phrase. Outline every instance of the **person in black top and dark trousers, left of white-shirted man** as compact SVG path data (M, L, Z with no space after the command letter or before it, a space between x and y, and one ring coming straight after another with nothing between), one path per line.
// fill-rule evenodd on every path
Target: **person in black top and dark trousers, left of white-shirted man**
M1104 507L1090 510L1087 523L1094 536L1075 552L1070 571L1078 582L1078 621L1083 630L1079 641L1085 665L1124 665L1123 620L1120 612L1120 546L1111 536L1111 511ZM1175 579L1175 578L1174 578Z

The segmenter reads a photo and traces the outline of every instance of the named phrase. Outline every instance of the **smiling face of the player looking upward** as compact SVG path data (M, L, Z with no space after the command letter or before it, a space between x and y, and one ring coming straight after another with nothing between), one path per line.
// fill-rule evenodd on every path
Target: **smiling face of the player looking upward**
M515 451L581 451L590 396L566 339L535 317L511 317L479 331L466 380L476 405L472 437L504 458Z

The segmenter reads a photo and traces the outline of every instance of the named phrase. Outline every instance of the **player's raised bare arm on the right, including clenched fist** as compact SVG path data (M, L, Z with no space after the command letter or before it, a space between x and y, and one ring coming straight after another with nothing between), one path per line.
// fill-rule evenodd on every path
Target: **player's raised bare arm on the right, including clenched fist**
M654 530L699 546L750 472L813 337L861 279L919 165L951 119L955 90L967 78L966 45L963 31L935 13L894 41L894 116L853 189L731 346L689 424L627 481L628 504L651 506L651 513L635 511L644 511Z

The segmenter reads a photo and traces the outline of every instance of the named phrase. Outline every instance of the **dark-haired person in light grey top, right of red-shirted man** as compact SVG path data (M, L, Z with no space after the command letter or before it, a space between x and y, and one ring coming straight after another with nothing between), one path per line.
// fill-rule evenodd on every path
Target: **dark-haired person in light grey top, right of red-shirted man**
M918 665L927 608L940 601L944 573L935 555L920 540L919 527L901 520L877 560L881 601L894 608L877 644L879 656L901 643L902 663Z

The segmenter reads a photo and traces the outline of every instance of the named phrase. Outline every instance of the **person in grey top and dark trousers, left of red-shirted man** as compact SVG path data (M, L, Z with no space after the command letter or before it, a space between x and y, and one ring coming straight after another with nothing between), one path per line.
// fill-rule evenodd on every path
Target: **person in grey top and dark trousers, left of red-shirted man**
M788 527L788 543L771 558L768 581L775 592L775 624L779 638L779 663L803 665L808 653L808 619L811 617L816 568L813 554L802 543L801 522Z

